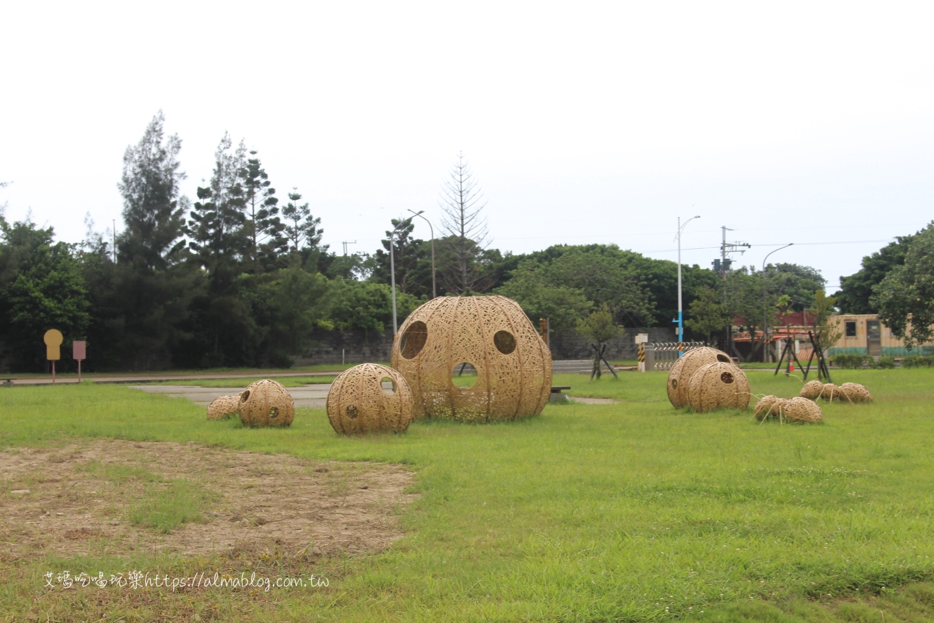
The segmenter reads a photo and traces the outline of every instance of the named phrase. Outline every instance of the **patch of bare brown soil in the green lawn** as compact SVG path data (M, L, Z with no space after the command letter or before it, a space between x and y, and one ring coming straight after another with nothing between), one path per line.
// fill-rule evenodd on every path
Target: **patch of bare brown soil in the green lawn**
M9 448L0 452L0 557L141 547L197 555L272 544L307 557L377 551L402 536L393 511L414 499L405 493L413 475L398 465L315 463L194 443ZM200 517L165 534L127 519L128 509L179 481L209 492Z

